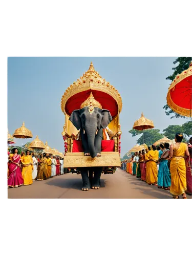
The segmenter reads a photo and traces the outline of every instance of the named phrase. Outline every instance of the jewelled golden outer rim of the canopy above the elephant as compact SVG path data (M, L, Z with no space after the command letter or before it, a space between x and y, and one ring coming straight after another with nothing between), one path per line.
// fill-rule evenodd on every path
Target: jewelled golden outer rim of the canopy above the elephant
M80 79L77 79L76 82L71 84L70 87L63 94L61 99L61 110L63 113L65 112L65 106L73 95L88 91L88 90L96 90L109 94L112 96L118 104L119 113L122 110L122 98L119 92L113 87L109 82L106 82L97 71L95 71L93 67L93 63L91 62L89 70L83 74ZM67 114L66 114L67 115Z

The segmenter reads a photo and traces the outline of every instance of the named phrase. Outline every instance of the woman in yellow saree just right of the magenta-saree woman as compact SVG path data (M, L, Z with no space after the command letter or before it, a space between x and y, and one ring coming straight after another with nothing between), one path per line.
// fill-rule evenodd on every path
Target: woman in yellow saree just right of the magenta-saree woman
M23 155L20 161L22 162L22 177L24 178L24 185L28 186L33 184L32 171L33 159L29 150L26 151L26 156Z

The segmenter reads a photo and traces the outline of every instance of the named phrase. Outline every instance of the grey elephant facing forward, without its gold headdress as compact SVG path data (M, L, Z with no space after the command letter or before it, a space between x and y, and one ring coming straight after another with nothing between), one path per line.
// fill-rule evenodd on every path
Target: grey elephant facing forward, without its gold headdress
M112 121L112 116L109 110L95 107L90 113L88 106L74 110L69 118L77 130L80 129L82 147L85 156L91 155L92 158L101 156L101 140L103 129ZM100 177L102 167L81 167L78 168L82 177L82 190L88 191L100 188ZM89 172L89 175L88 175ZM94 172L93 179L92 174ZM90 179L89 179L90 176ZM92 181L92 182L91 182Z

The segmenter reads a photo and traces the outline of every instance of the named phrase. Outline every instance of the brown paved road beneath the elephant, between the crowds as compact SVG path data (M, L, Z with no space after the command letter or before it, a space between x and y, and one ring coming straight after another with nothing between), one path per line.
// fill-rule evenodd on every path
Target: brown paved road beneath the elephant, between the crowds
M124 170L101 175L99 190L81 190L81 175L66 174L7 189L10 200L171 200L169 191L147 185ZM187 196L192 200L192 196Z

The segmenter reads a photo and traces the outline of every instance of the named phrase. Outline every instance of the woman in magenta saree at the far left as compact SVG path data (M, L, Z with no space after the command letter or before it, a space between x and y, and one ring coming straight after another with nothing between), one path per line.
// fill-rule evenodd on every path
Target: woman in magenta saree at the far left
M19 166L20 155L18 155L18 149L14 147L12 149L12 154L9 155L9 177L6 180L7 187L19 187L24 184L24 179Z

